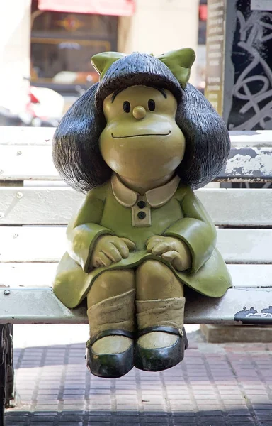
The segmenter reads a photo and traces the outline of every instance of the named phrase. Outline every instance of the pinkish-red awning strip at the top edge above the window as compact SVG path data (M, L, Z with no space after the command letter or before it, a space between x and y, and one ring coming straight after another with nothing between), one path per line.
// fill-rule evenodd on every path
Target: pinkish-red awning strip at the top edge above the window
M134 0L38 0L40 11L131 16Z

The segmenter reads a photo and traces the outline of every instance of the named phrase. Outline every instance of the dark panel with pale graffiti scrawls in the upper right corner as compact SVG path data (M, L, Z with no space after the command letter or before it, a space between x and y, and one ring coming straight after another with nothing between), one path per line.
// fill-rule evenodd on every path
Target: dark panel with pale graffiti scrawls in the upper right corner
M272 129L272 13L251 11L249 3L237 1L229 130Z

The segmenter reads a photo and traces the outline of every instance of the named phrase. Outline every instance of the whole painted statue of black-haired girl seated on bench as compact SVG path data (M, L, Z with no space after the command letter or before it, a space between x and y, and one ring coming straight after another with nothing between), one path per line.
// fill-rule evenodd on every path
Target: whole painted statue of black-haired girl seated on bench
M86 198L67 228L54 291L67 307L86 298L86 362L116 378L183 359L184 288L224 295L229 273L193 189L222 168L229 135L191 84L191 49L159 58L106 52L101 75L67 111L53 145L62 178Z

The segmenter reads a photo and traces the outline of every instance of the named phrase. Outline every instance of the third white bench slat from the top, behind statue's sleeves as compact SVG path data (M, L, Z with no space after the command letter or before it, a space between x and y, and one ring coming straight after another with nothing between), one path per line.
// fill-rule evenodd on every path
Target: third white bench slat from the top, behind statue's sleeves
M66 251L63 226L1 226L0 262L57 262ZM227 263L272 263L272 229L218 229Z

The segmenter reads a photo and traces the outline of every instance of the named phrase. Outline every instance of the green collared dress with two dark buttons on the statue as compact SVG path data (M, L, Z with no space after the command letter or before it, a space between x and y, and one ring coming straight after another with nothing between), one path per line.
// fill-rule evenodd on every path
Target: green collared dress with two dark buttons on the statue
M91 270L92 249L101 235L128 238L136 249L118 263ZM191 269L176 271L161 256L148 253L146 241L153 235L184 241L191 251ZM67 253L53 285L67 307L79 305L104 271L136 268L147 259L165 263L181 283L203 295L221 297L232 286L225 261L215 248L215 226L191 188L179 183L179 178L140 196L113 175L86 195L77 217L67 227L67 240Z

